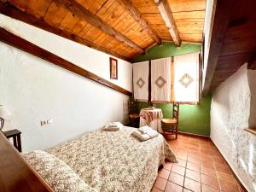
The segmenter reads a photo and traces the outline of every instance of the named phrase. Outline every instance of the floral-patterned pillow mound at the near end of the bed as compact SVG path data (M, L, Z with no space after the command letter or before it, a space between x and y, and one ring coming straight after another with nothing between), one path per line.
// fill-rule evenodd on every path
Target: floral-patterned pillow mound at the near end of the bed
M53 154L37 150L23 156L55 192L96 192Z

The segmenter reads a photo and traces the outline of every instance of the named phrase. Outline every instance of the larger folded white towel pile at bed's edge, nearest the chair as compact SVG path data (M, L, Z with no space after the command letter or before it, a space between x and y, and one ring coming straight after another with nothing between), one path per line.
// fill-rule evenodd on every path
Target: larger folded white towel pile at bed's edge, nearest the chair
M140 141L147 141L148 139L158 137L159 133L152 130L148 126L140 127L137 131L131 133L133 136L137 137Z

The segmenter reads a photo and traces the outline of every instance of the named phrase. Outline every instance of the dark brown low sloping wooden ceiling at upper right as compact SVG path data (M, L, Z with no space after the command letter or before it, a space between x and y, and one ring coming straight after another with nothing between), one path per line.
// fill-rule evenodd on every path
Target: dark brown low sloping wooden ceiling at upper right
M217 1L204 92L212 92L256 55L254 0ZM218 46L217 46L218 45ZM215 60L215 61L214 61Z

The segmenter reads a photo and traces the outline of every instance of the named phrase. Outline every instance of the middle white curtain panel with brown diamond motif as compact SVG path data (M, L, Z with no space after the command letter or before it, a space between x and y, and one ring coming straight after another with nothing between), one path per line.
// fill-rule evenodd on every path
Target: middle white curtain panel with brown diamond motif
M151 101L172 101L172 58L151 61Z

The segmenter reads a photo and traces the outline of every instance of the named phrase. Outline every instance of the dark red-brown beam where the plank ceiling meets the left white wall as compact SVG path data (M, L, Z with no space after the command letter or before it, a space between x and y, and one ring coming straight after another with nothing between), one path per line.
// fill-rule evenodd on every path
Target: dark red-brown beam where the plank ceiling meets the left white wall
M67 38L92 49L97 49L109 55L113 55L115 57L118 57L119 59L131 61L130 58L113 52L112 50L106 49L99 44L94 44L84 38L79 38L79 36L76 36L71 32L67 32L66 30L61 30L60 28L57 28L55 26L50 26L44 20L40 20L32 15L26 14L25 12L20 11L20 9L15 8L15 6L11 5L10 3L2 3L0 1L0 13L12 17L16 20L26 22L29 25L37 26L38 28L43 29L47 32L52 32L55 35L61 36L62 38Z

